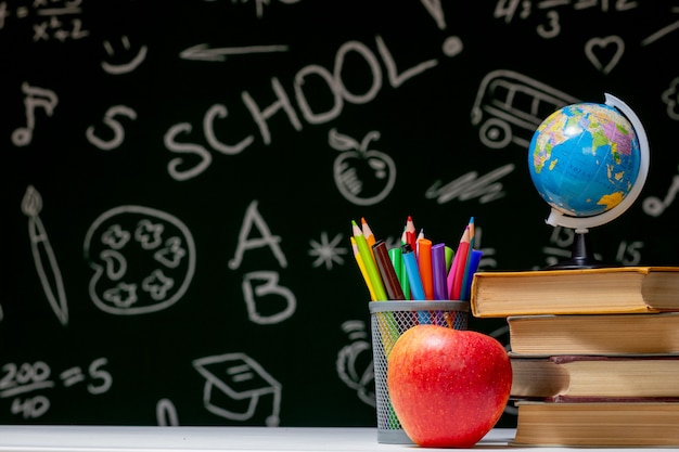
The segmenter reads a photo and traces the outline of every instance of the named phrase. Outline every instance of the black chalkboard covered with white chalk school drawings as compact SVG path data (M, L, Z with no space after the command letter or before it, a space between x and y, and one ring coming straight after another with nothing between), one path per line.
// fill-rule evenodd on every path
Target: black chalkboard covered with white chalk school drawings
M454 245L473 216L485 271L565 259L528 142L605 93L651 167L594 253L676 264L677 21L655 1L0 2L0 423L375 425L351 220Z

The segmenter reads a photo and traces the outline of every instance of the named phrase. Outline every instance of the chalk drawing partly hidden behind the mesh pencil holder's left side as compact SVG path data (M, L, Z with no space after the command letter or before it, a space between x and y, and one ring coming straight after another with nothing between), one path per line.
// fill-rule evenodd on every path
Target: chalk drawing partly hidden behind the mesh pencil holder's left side
M342 324L342 330L351 343L337 353L337 375L345 385L356 390L363 403L375 406L372 348L366 333L366 323L349 320Z

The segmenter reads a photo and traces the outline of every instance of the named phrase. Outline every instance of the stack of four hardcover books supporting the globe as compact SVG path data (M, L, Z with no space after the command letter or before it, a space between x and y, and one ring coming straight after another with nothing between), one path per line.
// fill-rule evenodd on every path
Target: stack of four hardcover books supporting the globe
M679 447L679 267L479 272L507 318L515 445Z

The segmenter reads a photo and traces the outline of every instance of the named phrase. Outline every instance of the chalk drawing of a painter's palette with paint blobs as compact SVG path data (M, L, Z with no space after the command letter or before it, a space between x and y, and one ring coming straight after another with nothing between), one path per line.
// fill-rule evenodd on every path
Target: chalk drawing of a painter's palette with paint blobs
M195 270L195 245L179 219L143 206L102 214L85 237L85 258L94 270L89 293L102 311L131 315L177 302Z

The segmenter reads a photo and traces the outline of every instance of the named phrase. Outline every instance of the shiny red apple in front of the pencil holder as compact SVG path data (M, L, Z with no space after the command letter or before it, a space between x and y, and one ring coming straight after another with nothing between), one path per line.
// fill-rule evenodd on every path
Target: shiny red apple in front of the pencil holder
M511 386L507 351L477 332L417 325L396 340L388 357L394 411L422 447L474 445L502 415Z

